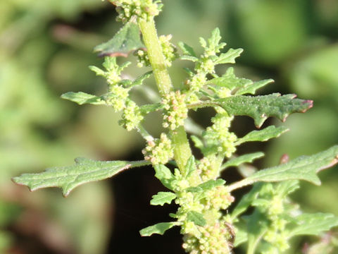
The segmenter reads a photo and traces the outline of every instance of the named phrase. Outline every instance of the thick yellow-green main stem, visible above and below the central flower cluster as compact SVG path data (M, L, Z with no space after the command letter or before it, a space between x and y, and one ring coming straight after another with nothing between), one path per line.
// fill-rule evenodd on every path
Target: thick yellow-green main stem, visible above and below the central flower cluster
M148 50L149 61L153 68L153 73L156 80L156 85L161 97L164 97L169 92L174 90L173 83L171 83L170 75L165 66L164 56L161 48L161 44L158 40L154 18L151 20L139 20L139 30L143 35L143 41ZM173 145L174 145L174 157L177 166L181 171L184 171L184 166L187 164L187 160L192 155L190 150L189 141L187 139L187 133L185 133L184 127L180 126L173 131Z

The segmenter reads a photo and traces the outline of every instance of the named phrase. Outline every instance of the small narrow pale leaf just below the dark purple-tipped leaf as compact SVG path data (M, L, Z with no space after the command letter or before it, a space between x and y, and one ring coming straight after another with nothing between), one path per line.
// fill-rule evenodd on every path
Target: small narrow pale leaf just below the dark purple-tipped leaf
M284 126L280 127L268 126L267 128L264 128L261 131L251 131L243 138L239 138L236 141L235 145L240 145L242 143L252 141L267 141L270 140L271 138L277 138L287 131L289 131L289 129Z

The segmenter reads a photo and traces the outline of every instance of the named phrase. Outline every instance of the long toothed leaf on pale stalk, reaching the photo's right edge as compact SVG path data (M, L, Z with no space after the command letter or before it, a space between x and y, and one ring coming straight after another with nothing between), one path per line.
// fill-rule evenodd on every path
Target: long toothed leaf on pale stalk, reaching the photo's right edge
M311 156L301 156L285 164L280 164L277 167L258 171L242 181L232 183L229 189L232 191L257 181L305 180L315 185L320 185L320 179L317 173L323 169L334 166L337 162L338 145L335 145L324 152L319 152Z

